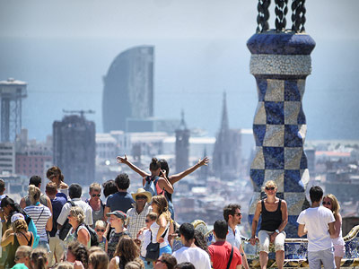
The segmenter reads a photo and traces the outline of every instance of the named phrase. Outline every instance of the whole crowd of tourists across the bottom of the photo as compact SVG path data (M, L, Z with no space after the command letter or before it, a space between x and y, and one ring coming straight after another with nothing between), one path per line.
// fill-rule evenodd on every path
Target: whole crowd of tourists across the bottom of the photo
M122 173L102 186L92 183L87 200L83 200L82 186L67 186L57 167L48 169L45 194L40 191L41 178L31 177L28 195L20 204L6 195L4 180L0 179L0 269L249 269L238 228L240 204L224 206L223 220L215 221L215 241L209 246L191 223L179 225L174 221L173 185L208 161L199 160L195 166L169 176L164 160L153 158L150 173L146 173L126 155L118 157L118 163L143 178L143 187L128 193L130 178ZM259 245L261 269L267 268L270 243L274 244L279 269L285 261L288 210L276 191L276 182L267 181L267 197L258 201L252 221L250 243ZM101 201L101 192L106 203ZM320 187L311 187L310 196L311 207L297 220L298 235L307 235L309 240L309 265L311 269L320 269L320 264L326 269L339 268L345 244L337 198L323 197ZM182 247L173 252L175 238L180 239Z

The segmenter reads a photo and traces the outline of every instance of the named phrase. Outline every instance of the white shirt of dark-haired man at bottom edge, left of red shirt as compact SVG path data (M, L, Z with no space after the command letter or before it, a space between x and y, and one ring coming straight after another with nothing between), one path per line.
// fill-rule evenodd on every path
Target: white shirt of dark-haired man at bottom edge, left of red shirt
M172 256L176 257L177 264L189 262L195 265L196 269L211 269L211 260L202 248L180 247Z

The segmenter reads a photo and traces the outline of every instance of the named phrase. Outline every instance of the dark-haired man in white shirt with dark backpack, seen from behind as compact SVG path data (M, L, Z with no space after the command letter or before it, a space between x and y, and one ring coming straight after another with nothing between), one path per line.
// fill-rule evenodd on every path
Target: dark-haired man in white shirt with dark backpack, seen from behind
M92 208L89 204L86 202L83 202L81 200L81 195L83 194L83 188L79 184L71 184L68 188L68 195L71 198L71 201L74 202L75 205L80 206L83 209L84 213L84 223L87 225L92 225ZM64 207L61 210L61 213L59 214L57 218L57 229L60 230L62 225L64 225L64 222L67 219L68 214L70 213L72 205L70 203L64 204Z

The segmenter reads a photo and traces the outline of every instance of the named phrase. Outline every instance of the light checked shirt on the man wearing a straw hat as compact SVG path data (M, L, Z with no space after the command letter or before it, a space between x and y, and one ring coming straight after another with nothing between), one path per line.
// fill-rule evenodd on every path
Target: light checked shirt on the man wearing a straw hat
M136 204L127 211L127 231L131 238L136 239L139 230L145 227L145 216L152 212L152 206L146 203L141 213L137 213Z

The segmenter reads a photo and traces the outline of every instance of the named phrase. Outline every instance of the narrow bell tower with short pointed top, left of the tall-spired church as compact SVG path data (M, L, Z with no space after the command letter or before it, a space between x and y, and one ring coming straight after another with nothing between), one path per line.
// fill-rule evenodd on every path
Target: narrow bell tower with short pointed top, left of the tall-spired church
M189 130L185 123L185 116L182 110L180 127L176 132L176 172L179 173L188 169L189 155Z

